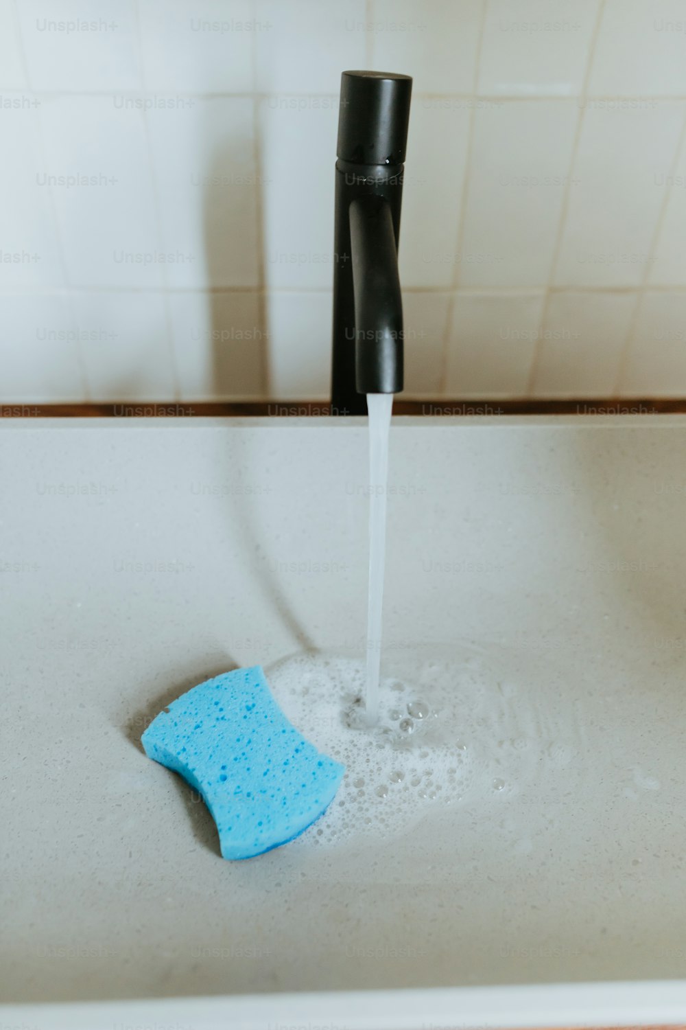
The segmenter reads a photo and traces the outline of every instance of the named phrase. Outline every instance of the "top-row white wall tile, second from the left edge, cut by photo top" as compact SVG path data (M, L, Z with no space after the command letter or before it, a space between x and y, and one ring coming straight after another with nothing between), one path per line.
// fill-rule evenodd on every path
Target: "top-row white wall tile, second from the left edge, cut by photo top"
M133 0L20 0L22 39L34 90L138 90Z

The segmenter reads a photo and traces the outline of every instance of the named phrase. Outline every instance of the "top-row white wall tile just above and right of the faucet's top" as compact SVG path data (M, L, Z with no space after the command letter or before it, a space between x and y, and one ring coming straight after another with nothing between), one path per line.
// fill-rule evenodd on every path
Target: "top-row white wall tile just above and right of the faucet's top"
M481 0L372 0L372 64L412 75L418 93L471 93Z

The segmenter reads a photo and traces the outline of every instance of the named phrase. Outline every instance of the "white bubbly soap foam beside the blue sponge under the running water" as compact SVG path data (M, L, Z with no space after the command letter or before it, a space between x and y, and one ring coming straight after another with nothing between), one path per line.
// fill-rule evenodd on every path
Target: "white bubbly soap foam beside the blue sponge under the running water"
M459 802L472 783L474 757L460 737L464 691L456 676L463 688L469 681L482 688L482 672L465 663L457 674L454 665L429 660L406 681L382 678L378 721L369 726L362 660L303 654L268 668L291 722L346 766L336 798L308 842L395 836L436 806Z

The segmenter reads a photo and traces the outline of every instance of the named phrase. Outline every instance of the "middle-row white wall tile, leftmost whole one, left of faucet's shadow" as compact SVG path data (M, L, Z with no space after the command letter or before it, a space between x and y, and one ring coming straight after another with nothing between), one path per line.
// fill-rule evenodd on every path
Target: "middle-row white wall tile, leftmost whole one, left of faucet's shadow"
M41 102L46 173L96 183L52 188L68 274L76 286L158 286L170 255L157 234L143 113L116 99Z

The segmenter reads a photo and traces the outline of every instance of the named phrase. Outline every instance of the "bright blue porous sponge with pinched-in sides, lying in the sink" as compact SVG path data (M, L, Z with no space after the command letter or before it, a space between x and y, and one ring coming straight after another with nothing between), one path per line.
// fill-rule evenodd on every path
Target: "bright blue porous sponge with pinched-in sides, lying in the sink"
M148 758L202 795L223 858L252 858L302 833L333 800L345 772L291 725L259 665L193 687L141 741Z

